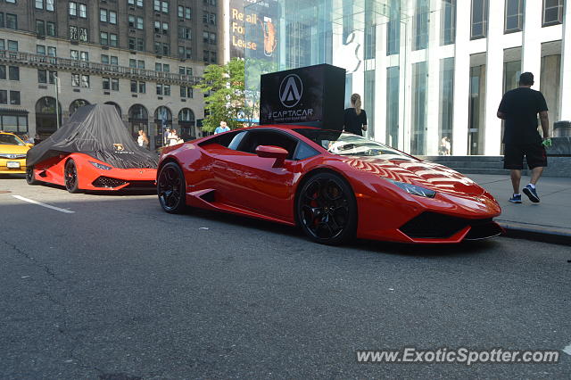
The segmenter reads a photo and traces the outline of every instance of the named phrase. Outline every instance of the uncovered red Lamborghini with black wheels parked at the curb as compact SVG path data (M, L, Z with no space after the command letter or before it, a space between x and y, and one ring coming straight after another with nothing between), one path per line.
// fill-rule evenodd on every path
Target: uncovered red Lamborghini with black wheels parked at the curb
M186 205L299 225L316 242L352 237L459 243L501 234L501 208L474 181L339 131L262 126L163 151L164 211Z

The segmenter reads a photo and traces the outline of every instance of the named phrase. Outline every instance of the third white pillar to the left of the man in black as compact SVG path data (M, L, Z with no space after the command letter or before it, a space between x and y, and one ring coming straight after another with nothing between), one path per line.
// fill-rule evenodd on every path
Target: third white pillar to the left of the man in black
M431 0L428 21L428 88L426 91L426 155L438 155L438 123L440 113L440 8L442 1Z

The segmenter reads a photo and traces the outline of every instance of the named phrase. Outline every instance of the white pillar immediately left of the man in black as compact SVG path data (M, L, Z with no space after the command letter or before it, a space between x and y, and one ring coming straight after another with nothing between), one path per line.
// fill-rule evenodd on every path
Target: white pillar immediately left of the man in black
M504 2L490 1L489 4L485 65L485 118L482 120L483 124L480 125L480 130L484 128L484 154L499 155L501 120L497 118L496 113L503 95L503 47L501 39L504 26Z

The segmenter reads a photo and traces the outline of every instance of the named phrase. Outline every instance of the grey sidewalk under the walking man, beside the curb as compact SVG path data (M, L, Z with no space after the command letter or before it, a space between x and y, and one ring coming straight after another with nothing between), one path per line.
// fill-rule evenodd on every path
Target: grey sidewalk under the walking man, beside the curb
M540 203L522 193L522 204L508 202L513 193L508 175L467 174L483 186L501 205L495 220L508 236L571 245L571 178L542 177L537 183ZM521 186L529 177L521 178ZM521 192L521 190L520 190Z

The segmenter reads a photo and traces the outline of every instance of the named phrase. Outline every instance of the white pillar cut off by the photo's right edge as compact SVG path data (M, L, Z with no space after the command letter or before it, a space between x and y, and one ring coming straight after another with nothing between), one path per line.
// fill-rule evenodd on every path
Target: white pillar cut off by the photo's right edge
M560 120L571 120L571 1L563 10L563 40L561 46L561 81L559 87ZM557 121L557 120L550 120Z

